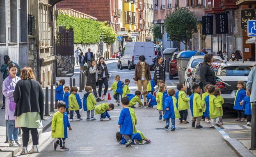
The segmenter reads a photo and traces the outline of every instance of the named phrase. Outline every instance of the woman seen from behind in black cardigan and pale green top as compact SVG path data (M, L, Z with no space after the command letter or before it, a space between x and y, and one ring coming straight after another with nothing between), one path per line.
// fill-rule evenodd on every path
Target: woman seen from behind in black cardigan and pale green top
M20 155L38 153L39 135L37 128L42 128L43 119L43 89L39 82L34 80L34 73L30 67L21 69L21 80L17 82L14 91L16 108L16 127L21 127L23 149ZM27 152L29 133L32 134L32 149Z

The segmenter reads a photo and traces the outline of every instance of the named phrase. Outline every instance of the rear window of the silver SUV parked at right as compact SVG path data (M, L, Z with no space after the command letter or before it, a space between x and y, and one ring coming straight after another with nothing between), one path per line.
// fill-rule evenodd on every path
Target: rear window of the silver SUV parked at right
M230 66L224 67L219 76L248 76L250 71L250 66Z

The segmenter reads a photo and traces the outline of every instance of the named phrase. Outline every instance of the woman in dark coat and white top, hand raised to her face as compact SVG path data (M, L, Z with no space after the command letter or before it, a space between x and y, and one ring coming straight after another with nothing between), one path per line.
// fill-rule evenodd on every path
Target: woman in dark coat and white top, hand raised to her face
M98 97L97 91L96 91L96 82L98 82L98 69L96 66L96 61L94 59L91 59L90 63L91 63L91 65L87 69L86 86L92 87L94 95L96 97L96 101L100 102L101 99Z

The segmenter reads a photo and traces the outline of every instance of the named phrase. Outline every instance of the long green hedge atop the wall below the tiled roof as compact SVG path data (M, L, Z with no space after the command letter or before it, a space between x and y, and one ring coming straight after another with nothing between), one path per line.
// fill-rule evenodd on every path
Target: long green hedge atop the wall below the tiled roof
M85 18L75 18L59 13L57 18L57 28L66 26L66 29L73 28L75 44L91 44L100 42L103 35L103 42L114 43L117 34L110 26L105 26L105 22L98 22Z

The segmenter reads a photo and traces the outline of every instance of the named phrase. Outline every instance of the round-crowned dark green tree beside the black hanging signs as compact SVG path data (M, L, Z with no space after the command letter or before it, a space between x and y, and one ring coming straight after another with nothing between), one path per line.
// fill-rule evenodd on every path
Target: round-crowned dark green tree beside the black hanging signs
M186 7L178 7L165 17L165 29L172 41L183 42L185 50L187 42L197 32L197 17L190 9Z

